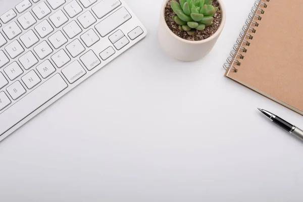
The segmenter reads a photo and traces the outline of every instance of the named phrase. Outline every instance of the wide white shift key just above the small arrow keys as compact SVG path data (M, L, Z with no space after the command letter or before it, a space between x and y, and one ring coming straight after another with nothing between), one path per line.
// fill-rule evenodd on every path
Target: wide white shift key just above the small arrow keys
M131 19L131 15L122 7L103 21L99 22L95 28L102 37L105 37L114 29Z

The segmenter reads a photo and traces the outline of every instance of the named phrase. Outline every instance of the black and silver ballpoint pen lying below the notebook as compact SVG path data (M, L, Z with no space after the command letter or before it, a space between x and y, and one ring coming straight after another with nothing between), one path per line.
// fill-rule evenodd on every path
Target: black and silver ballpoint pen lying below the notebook
M277 124L278 126L282 127L283 129L287 130L290 134L300 138L303 140L303 131L299 129L298 127L288 123L287 121L281 119L280 117L274 115L273 113L270 113L266 110L262 110L258 108L260 112L262 112L267 118L269 118L272 122Z

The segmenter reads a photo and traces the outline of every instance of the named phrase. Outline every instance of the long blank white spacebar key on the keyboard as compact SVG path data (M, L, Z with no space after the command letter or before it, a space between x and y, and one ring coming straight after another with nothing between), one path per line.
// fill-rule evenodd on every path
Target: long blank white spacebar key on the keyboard
M0 136L18 124L49 99L67 88L66 82L56 74L19 100L15 105L0 114Z

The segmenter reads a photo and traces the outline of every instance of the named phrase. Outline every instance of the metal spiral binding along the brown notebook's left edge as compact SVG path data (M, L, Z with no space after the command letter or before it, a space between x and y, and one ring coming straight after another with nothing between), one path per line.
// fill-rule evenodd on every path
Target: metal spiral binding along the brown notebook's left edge
M247 52L247 48L244 46L249 46L249 40L254 38L254 36L252 36L250 33L256 33L256 27L259 26L258 21L262 20L261 15L265 13L264 9L267 8L267 4L265 2L269 1L270 0L256 1L254 7L251 8L251 13L249 13L248 19L245 21L245 25L242 27L243 31L240 32L239 38L237 38L236 44L233 46L233 51L230 52L230 57L227 58L226 63L223 65L224 69L232 69L234 72L238 71L236 66L240 66L241 62L239 60L244 59L241 52ZM261 15L259 15L259 13Z

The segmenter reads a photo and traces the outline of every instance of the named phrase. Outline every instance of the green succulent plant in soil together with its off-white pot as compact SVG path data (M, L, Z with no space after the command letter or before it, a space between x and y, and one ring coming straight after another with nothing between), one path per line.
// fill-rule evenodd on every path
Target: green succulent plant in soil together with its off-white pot
M222 0L164 0L158 37L169 55L196 61L211 51L224 25Z

